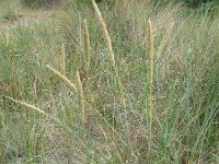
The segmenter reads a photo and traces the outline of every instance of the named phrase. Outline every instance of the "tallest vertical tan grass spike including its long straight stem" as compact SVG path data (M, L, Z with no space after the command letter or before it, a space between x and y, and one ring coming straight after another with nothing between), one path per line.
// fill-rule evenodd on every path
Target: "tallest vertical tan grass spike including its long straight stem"
M154 38L153 38L153 26L151 20L149 19L149 37L148 37L148 52L149 52L149 144L148 144L148 155L151 152L151 141L152 141L152 121L153 121L153 72L154 72Z

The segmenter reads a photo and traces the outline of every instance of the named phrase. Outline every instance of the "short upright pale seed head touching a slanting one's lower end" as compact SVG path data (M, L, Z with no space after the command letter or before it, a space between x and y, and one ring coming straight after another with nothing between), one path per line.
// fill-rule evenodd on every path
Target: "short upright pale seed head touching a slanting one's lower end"
M78 71L77 71L77 80L78 80L79 104L81 107L81 121L83 125L85 125L85 101L84 101L84 94L83 94L83 85L82 85L81 78Z

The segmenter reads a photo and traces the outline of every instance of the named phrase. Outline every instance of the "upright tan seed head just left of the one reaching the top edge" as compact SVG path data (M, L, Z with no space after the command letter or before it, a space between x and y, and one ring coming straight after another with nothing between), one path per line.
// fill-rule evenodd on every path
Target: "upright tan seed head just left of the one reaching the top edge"
M89 74L89 68L91 62L91 43L89 37L89 28L87 20L83 21L83 31L84 31L84 52L87 56L87 73Z

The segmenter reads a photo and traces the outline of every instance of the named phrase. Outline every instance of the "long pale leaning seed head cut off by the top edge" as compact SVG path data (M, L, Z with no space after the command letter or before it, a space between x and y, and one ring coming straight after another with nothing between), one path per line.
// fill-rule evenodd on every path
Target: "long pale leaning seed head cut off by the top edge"
M94 10L95 10L95 12L97 14L99 22L101 23L102 30L104 32L104 38L105 38L106 45L107 45L108 50L110 50L112 62L113 62L113 65L115 67L115 65L116 65L115 55L114 55L114 51L113 51L112 40L111 40L110 34L108 34L106 24L105 24L104 19L103 19L103 16L102 16L102 14L101 14L101 12L99 10L99 7L97 7L97 4L95 3L94 0L92 0L92 3L93 3L93 8L94 8Z

